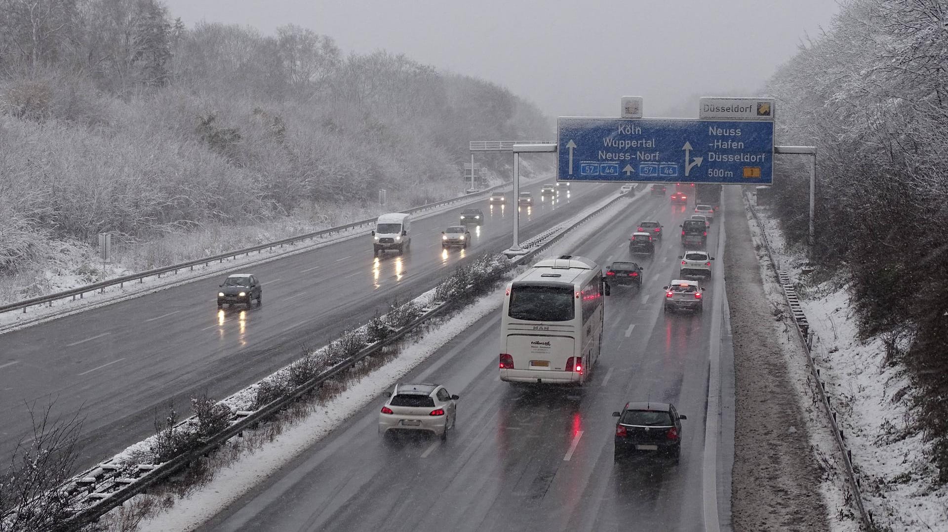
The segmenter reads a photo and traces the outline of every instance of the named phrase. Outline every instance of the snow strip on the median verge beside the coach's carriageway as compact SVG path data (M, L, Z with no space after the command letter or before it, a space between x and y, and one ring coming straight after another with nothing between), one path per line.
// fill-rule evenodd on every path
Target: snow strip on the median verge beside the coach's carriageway
M616 202L598 217L574 229L562 240L551 246L543 257L569 253L573 248L592 237L604 223L628 207L624 201ZM594 208L580 214L585 216ZM537 260L543 258L537 257ZM534 261L536 262L536 261ZM524 266L506 274L511 278ZM438 327L428 329L424 337L402 349L399 355L371 374L363 376L356 384L333 397L319 408L318 412L303 418L299 423L283 430L273 442L257 451L245 451L233 464L215 472L214 478L186 499L175 502L173 509L144 521L139 530L164 532L167 530L193 530L209 520L219 511L233 503L262 479L274 474L301 452L312 447L339 424L375 400L378 394L387 391L401 377L407 375L418 364L436 353L449 340L462 334L476 321L481 320L501 306L504 287L493 290L478 299L453 318L443 321ZM420 296L430 297L434 289ZM140 446L138 444L135 447ZM126 503L126 505L129 503ZM118 513L118 509L112 511Z

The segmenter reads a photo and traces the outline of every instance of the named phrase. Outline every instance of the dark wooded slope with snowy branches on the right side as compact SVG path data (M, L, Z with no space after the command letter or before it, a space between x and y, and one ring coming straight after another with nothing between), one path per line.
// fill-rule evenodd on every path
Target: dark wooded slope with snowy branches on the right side
M948 482L948 6L852 0L770 82L779 144L815 145L816 259L848 284L866 337L904 368L914 415ZM808 179L775 178L783 229L807 235Z

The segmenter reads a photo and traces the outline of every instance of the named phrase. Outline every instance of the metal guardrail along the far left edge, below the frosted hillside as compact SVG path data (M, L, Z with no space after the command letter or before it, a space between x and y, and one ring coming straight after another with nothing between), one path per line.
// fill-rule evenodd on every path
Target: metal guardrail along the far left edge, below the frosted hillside
M478 193L470 193L470 194L465 194L463 196L458 196L458 197L446 199L443 201L438 201L435 203L428 203L427 205L422 205L421 207L414 207L412 209L405 210L405 212L414 213L414 212L428 211L431 209L437 209L439 207L450 205L452 203L467 201L475 197L480 197L484 193L490 193L495 190L508 187L510 186L510 184L511 184L511 181L507 181L507 182L501 183L500 185L483 189L483 191L479 191ZM272 249L272 248L278 248L278 247L283 248L284 246L294 245L303 240L311 240L314 238L319 238L320 236L342 232L349 229L356 229L356 228L369 225L369 224L374 224L376 219L377 219L377 216L374 218L359 220L351 224L345 224L343 226L336 226L329 229L320 229L318 231L313 231L306 234L283 238L281 240L277 240L274 242L268 242L268 243L260 244L257 246L251 246L250 248L234 249L226 253L211 255L210 257L203 257L200 259L194 259L194 260L176 264L176 265L162 266L162 267L158 267L158 268L150 269L146 271L139 271L137 273L123 275L121 277L116 277L114 279L100 281L99 283L85 284L77 288L70 288L68 290L64 290L61 292L47 294L46 296L38 296L35 298L21 300L14 303L3 304L3 305L0 305L0 314L5 313L5 312L10 312L13 310L19 310L19 309L23 309L23 312L26 313L27 308L30 306L36 306L36 305L46 304L46 303L48 303L51 306L53 302L58 301L58 300L63 300L69 297L71 297L73 301L75 301L77 296L80 299L82 299L83 294L86 294L89 292L95 292L97 290L104 291L105 288L109 286L114 286L116 284L118 284L119 286L123 286L125 283L131 283L134 281L141 283L144 281L146 277L155 277L155 276L161 277L161 275L164 273L172 273L172 272L177 273L178 270L185 269L185 268L190 268L191 270L193 270L194 266L201 266L201 265L208 266L210 265L210 263L215 262L215 261L223 263L225 259L236 258L240 255L249 255L250 253L253 253L255 251L260 253L264 249Z

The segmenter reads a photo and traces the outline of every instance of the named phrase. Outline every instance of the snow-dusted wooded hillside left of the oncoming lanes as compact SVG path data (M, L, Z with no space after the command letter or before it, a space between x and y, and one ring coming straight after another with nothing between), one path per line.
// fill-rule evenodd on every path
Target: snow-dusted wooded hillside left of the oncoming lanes
M43 291L33 278L64 243L100 232L202 242L131 265L156 266L232 247L209 232L341 223L379 189L392 208L455 196L468 140L551 134L498 85L305 28L185 28L157 0L0 0L0 275L20 278L0 299Z

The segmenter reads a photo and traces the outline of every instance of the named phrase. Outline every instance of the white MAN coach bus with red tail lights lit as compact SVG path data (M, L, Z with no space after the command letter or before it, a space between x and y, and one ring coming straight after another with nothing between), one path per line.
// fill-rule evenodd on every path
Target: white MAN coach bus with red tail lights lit
M507 284L501 380L586 382L602 346L604 295L599 266L571 255L540 261Z

